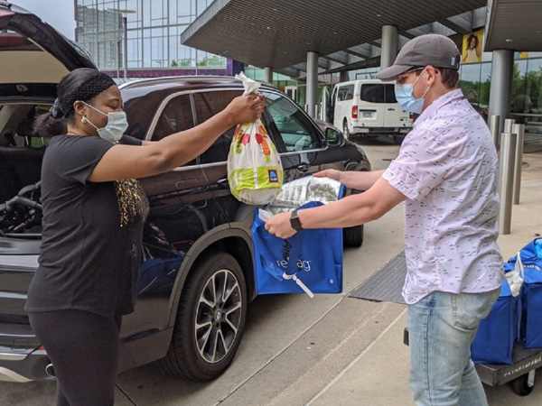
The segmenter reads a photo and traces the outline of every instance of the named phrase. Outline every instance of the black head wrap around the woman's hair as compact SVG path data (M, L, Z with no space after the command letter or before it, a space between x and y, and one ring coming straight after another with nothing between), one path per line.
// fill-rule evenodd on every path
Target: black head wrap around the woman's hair
M73 89L68 94L68 97L64 97L62 100L57 98L51 107L51 115L54 118L62 118L70 115L73 111L73 103L77 100L89 101L112 86L115 86L115 81L105 73L96 70L96 73L85 80L79 88Z

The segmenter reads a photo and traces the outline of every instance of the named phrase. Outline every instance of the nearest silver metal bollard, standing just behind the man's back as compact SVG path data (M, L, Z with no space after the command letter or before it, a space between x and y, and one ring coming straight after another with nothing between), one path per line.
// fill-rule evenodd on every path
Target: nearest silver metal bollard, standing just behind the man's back
M512 219L512 187L514 183L514 157L518 134L500 134L499 162L499 233L510 234Z

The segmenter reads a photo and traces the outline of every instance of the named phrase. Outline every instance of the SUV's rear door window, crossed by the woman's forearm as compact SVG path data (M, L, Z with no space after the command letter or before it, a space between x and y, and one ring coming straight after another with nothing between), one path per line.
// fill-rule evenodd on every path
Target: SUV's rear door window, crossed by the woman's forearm
M220 90L199 92L193 94L196 110L196 122L198 124L208 120L213 115L224 110L229 102L242 95L241 90ZM235 132L235 127L230 128L226 133L213 143L210 148L201 154L200 163L223 162L228 160L229 144Z

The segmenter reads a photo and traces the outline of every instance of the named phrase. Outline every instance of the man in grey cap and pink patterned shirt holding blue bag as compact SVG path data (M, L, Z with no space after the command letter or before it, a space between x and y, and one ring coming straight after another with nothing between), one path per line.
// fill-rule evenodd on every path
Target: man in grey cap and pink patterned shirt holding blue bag
M424 406L487 405L471 344L503 278L497 153L487 125L456 88L460 58L443 35L407 42L377 74L396 79L399 105L420 114L397 159L386 171L316 173L366 191L266 222L287 238L304 228L367 223L404 202L410 386Z

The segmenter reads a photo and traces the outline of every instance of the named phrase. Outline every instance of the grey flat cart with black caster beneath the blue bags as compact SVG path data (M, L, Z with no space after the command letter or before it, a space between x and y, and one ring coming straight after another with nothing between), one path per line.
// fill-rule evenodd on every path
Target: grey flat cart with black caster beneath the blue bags
M408 328L405 328L403 343L408 346ZM535 387L535 374L539 367L542 367L542 349L527 349L515 343L512 364L476 364L476 372L482 383L490 386L510 383L514 393L527 396Z

